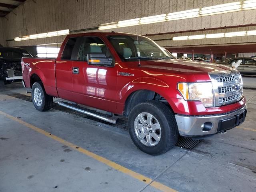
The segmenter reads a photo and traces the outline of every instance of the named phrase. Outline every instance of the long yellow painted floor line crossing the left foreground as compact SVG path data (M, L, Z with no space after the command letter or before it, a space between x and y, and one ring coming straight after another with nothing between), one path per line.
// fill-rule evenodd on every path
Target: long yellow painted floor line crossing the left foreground
M110 167L112 167L112 168L114 168L114 169L116 169L116 170L118 170L120 172L123 172L123 173L125 173L125 174L127 174L129 176L132 176L133 178L136 178L136 179L138 179L138 180L140 180L140 181L142 181L142 182L144 182L146 184L150 184L150 186L153 186L156 189L159 189L159 190L161 190L163 192L177 192L176 190L174 190L174 189L172 189L172 188L170 188L168 186L165 186L164 184L161 184L161 183L156 182L156 181L152 182L152 179L150 179L150 178L148 178L148 177L146 177L144 175L141 175L141 174L136 173L136 172L134 172L134 171L132 171L132 170L130 170L128 168L125 168L125 167L123 167L123 166L121 166L119 164L116 164L115 162L112 162L112 161L110 161L110 160L108 160L108 159L106 159L106 158L104 158L102 156L96 155L96 154L94 154L94 153L92 153L92 152L90 152L90 151L88 151L88 150L86 150L84 148L81 148L81 147L79 147L79 146L77 146L75 144L72 144L72 143L70 143L70 142L68 142L68 141L66 141L66 140L64 140L62 138L59 138L59 137L55 136L55 135L52 135L49 132L46 132L46 131L44 131L44 130L42 130L42 129L40 129L40 128L32 125L32 124L24 122L21 119L17 119L16 117L11 116L11 115L9 115L9 114L7 114L5 112L0 111L0 115L3 115L3 116L5 116L5 117L7 117L7 118L9 118L11 120L16 121L16 122L19 122L20 124L30 128L32 130L35 130L36 132L39 132L39 133L41 133L41 134L43 134L43 135L45 135L45 136L47 136L49 138L52 138L52 139L54 139L54 140L56 140L56 141L58 141L58 142L60 142L60 143L62 143L64 145L66 145L66 146L69 146L70 148L73 148L74 150L77 150L77 151L79 151L79 152L81 152L81 153L83 153L83 154L85 154L87 156L90 156L91 158L94 158L95 160L98 160L99 162L102 162L102 163L104 163L104 164L106 164L106 165L108 165L108 166L110 166Z

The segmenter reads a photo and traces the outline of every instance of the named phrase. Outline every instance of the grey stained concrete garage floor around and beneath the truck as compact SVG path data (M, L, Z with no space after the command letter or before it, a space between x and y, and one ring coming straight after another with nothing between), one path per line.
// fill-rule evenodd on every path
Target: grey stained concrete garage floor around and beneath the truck
M0 192L256 191L256 90L244 90L248 114L240 127L193 150L174 147L150 156L134 146L127 130L58 110L39 112L31 102L5 95L25 94L21 87L0 90Z

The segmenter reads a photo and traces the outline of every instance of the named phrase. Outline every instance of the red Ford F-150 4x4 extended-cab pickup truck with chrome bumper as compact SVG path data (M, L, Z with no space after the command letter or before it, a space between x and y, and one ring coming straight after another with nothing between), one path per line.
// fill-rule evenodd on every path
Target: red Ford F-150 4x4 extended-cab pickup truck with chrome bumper
M56 59L22 58L22 72L37 110L49 110L55 97L70 101L58 102L62 106L111 123L126 117L134 144L148 154L170 150L179 135L226 133L247 112L238 70L178 60L134 34L68 35Z

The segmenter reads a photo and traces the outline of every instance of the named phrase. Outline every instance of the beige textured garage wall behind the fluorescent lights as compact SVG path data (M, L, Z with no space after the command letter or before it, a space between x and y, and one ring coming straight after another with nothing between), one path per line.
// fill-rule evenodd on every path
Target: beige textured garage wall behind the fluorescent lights
M18 36L52 32L56 30L79 30L97 27L99 24L128 20L139 17L154 16L171 12L214 6L218 4L237 2L238 0L26 0L18 8L2 20L4 37L12 40ZM239 31L236 26L256 23L255 10L245 10L184 20L174 20L140 26L116 28L105 31L129 32L136 34L158 34L168 32L190 32L202 34L204 28L220 28L234 26L231 31ZM224 29L226 30L226 29ZM255 27L252 29L255 30ZM92 30L91 30L92 31ZM96 31L96 30L93 30ZM86 31L88 32L88 31ZM183 34L179 34L183 35ZM151 36L151 38L159 38ZM168 38L168 36L167 36ZM25 40L20 42L8 41L8 46L28 46L62 42L64 36ZM216 44L211 40L212 44ZM237 43L243 38L236 38ZM255 41L255 39L253 39ZM192 44L204 44L204 40L193 40ZM229 43L229 38L223 38L222 43ZM188 41L187 41L188 42ZM170 46L170 40L161 42ZM184 42L177 41L175 46L183 46Z

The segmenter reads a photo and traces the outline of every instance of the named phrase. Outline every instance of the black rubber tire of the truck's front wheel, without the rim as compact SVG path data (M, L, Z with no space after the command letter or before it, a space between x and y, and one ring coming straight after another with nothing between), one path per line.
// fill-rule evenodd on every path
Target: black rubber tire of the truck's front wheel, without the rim
M150 113L159 122L161 127L161 138L155 146L146 146L137 138L134 122L140 113ZM155 101L140 103L130 112L128 117L128 130L134 144L143 152L151 155L164 154L175 146L178 141L178 126L174 113L165 104Z

